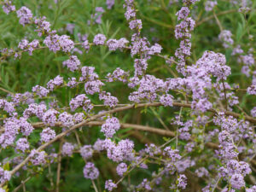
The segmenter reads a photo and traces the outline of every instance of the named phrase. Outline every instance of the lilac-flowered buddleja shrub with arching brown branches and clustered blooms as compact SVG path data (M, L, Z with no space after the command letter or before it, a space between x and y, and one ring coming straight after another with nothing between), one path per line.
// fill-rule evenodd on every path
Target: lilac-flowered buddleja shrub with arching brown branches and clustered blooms
M26 67L38 57L46 68L57 61L58 70L29 82L32 89L18 82L20 93L11 84L2 84L16 73L1 73L1 192L26 191L26 187L30 191L256 191L255 3L107 0L105 9L93 7L88 20L83 20L92 31L100 29L92 37L78 33L73 23L55 31L57 18L38 15L41 3L34 2L38 6L32 11L18 2L1 2L6 14L1 12L1 20L16 17L19 21L11 25L27 31L18 43L14 38L1 49L2 67ZM218 3L224 5L223 11ZM62 1L55 1L59 16L61 5ZM148 11L162 6L167 15L172 10L170 22L176 26L159 21L166 20L163 17L141 15L140 5L148 6ZM125 14L124 31L103 34L105 12L116 10L117 19ZM242 20L237 30L218 19L231 14L239 15L234 17L236 24ZM160 45L157 40L161 37L148 40L141 17L171 30L164 40L176 42L170 45L177 45L176 49L168 53L167 43ZM216 37L201 27L211 22L220 32ZM193 33L195 29L198 32ZM116 33L120 38L109 38ZM57 57L49 60L51 53ZM104 59L91 63L102 54L120 57L119 67L108 73L111 67ZM126 61L131 67L125 66ZM27 68L20 81L37 76L42 65ZM53 74L55 78L44 82Z

